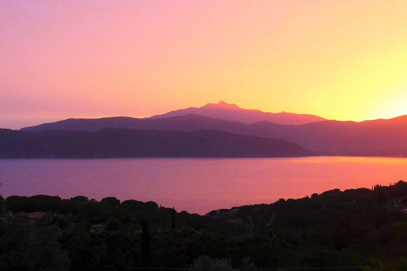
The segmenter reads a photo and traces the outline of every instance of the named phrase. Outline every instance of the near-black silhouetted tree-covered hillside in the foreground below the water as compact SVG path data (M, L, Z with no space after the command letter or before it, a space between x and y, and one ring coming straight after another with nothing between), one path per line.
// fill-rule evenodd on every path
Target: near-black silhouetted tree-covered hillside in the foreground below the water
M407 267L407 183L402 181L206 216L113 197L11 196L0 205L2 270ZM28 218L33 212L47 215Z

